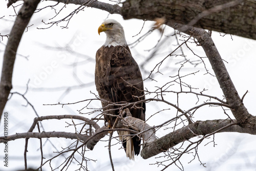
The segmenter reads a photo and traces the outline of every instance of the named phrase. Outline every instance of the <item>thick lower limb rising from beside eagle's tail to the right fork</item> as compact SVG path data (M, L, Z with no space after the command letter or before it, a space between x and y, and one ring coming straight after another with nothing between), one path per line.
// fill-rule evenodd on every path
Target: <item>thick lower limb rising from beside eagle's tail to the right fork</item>
M236 124L236 122L234 122L234 120L223 120L223 119L197 121L193 124L189 124L187 126L182 127L179 130L169 133L151 143L143 144L141 157L143 159L150 158L159 153L167 151L169 148L179 144L180 142L189 140L190 138L193 138L199 135L207 135L210 133L214 133L215 131L222 129L224 126L227 126L229 124ZM247 129L243 129L239 125L232 125L219 132L246 133L250 131L248 131ZM255 134L256 132L254 132L254 135Z

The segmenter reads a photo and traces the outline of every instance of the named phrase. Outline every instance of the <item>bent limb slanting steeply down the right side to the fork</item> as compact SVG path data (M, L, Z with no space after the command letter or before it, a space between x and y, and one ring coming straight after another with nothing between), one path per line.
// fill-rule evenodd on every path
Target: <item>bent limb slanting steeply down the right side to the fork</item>
M193 36L198 40L210 61L211 67L215 72L227 103L231 106L232 114L240 125L243 125L243 127L251 127L251 131L254 132L254 129L256 129L256 118L250 115L245 108L228 74L220 53L218 52L210 35L205 30L200 28L181 25L173 22L167 22L166 24L170 27L173 27L174 29L180 30L190 36Z

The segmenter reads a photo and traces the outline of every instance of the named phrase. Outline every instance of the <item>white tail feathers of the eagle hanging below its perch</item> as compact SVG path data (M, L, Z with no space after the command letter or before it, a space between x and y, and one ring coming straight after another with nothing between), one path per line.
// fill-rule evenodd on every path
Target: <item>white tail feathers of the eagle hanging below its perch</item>
M131 133L128 131L118 131L119 139L122 142L126 142L126 157L129 157L130 160L134 160L134 146L133 146L133 139L130 135Z

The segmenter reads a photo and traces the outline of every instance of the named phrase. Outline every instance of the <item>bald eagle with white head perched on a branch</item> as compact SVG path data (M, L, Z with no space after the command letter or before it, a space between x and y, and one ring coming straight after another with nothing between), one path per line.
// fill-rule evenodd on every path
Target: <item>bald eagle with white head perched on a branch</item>
M115 115L120 114L120 105L113 103L129 102L127 107L132 116L145 120L143 80L137 62L134 60L125 40L123 27L114 19L105 20L98 33L106 33L106 41L96 53L95 84L104 112L105 124L112 127ZM140 138L130 136L130 132L118 131L126 156L134 160L140 153Z

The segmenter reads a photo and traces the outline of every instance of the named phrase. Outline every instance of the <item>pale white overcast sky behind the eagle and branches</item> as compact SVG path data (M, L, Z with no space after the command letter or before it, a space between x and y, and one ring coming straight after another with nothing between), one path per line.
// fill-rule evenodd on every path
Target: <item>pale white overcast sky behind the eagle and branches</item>
M0 33L2 35L8 34L13 25L13 20L15 17L10 16L14 15L13 9L10 7L6 8L7 2L0 2L0 17L5 16L0 19ZM55 4L51 2L43 2L39 7L47 6L47 4ZM56 8L60 9L63 4L58 5ZM96 93L94 86L94 67L95 67L95 53L100 46L103 45L105 40L105 34L102 33L100 36L97 33L99 25L103 20L108 17L108 13L102 10L85 8L84 11L80 11L78 14L74 15L69 24L69 29L61 29L60 26L66 25L60 23L58 26L53 26L50 29L37 29L37 28L46 28L44 23L41 22L43 19L45 22L55 21L61 17L65 17L67 14L72 12L78 6L68 5L64 11L60 13L57 18L48 20L49 18L55 15L54 10L45 9L33 15L29 25L32 25L28 28L28 32L25 32L20 42L18 48L18 54L15 61L14 73L13 73L13 89L11 92L24 93L26 91L26 84L30 79L29 87L30 90L26 94L26 98L33 104L39 116L46 115L64 115L64 114L74 114L79 115L77 110L82 109L87 103L78 103L75 105L43 105L43 104L54 104L58 102L71 103L84 99L94 98L93 93ZM114 18L118 20L124 27L125 36L127 42L131 44L139 36L146 33L153 25L152 22L146 22L144 28L138 36L133 37L138 34L143 25L142 20L131 19L123 20L120 15L109 15L109 18ZM172 28L166 28L164 36L173 34L174 31ZM223 35L223 33L221 33ZM141 41L135 48L132 48L132 54L139 65L146 63L144 69L141 69L142 75L144 78L148 76L148 72L151 71L156 63L158 63L162 58L164 58L168 53L172 52L177 46L177 42L174 36L170 36L165 44L157 52L156 58L152 61L145 61L148 56L153 52L145 51L147 49L153 48L160 34L158 31L153 32L150 36L146 37ZM182 39L182 37L179 37ZM237 36L230 35L220 36L220 33L213 32L212 39L214 39L215 44L224 60L228 63L225 63L231 79L236 86L240 97L248 90L249 93L244 98L244 104L248 111L254 115L255 108L255 80L254 73L256 72L255 68L255 47L256 41L241 38ZM181 41L180 41L181 42ZM3 50L7 44L7 38L0 40L0 61L3 61ZM201 47L196 47L194 44L188 44L191 49L194 50L198 55L205 56ZM60 49L58 49L60 48ZM67 49L72 51L68 51ZM190 60L198 59L191 52L183 47L186 57ZM74 54L74 52L76 52ZM180 54L180 51L177 52ZM27 56L24 57L24 56ZM179 64L175 64L180 61L181 57L170 57L165 63L163 63L160 68L160 72L164 75L154 72L153 76L156 81L145 80L144 87L150 91L155 91L156 86L163 86L166 81L172 80L169 76L177 75L178 69L180 68ZM211 72L211 67L207 59L205 59L207 69ZM2 65L1 65L2 67ZM204 88L208 89L207 93L210 95L217 96L222 98L222 92L217 83L215 77L210 76L209 74L205 75L205 69L203 65L199 65L194 68L194 66L186 63L181 70L181 75L186 75L191 72L196 72L200 70L195 76L188 76L184 78L184 81L190 84L192 87L199 88L195 90L197 92L202 91ZM1 68L2 71L2 68ZM75 75L75 76L74 76ZM79 86L79 88L73 88L67 90L71 86ZM44 89L41 89L44 88ZM171 87L172 88L172 87ZM173 86L174 91L178 91L177 86ZM153 95L147 95L146 98L152 97ZM177 97L172 94L166 94L166 100L172 103L177 103ZM200 103L203 103L205 99L201 99ZM187 94L179 96L179 106L183 110L188 110L196 105L197 98L195 96L189 96ZM13 95L11 100L8 101L5 112L9 113L9 135L15 133L27 132L31 126L35 113L33 112L31 106L26 105L26 101L18 96ZM89 105L89 108L99 108L99 102L92 102ZM170 109L170 106L167 106L160 102L150 102L146 106L146 119L149 118L154 113L160 111L161 109ZM92 111L90 109L84 109L81 112L87 113ZM98 114L98 113L97 113ZM96 116L93 115L84 115L85 117L91 118ZM160 112L157 115L154 115L148 124L157 125L164 122L167 119L170 119L176 115L176 111L166 110ZM222 110L215 107L204 106L199 109L194 115L194 121L197 120L209 120L209 119L226 119L226 115L223 114ZM233 117L232 117L233 118ZM68 121L68 120L66 120ZM68 121L72 123L71 121ZM78 121L77 121L78 123ZM45 131L67 131L74 132L74 127L67 126L65 121L44 121ZM101 123L102 124L102 123ZM35 130L36 131L36 130ZM41 130L42 131L42 130ZM172 129L160 130L157 132L157 136L161 137L169 132ZM0 135L3 135L3 122L0 123ZM67 139L53 138L51 139L55 146L58 149L60 147L65 147L73 142ZM108 137L105 137L104 140L108 140ZM197 140L197 138L191 139ZM216 134L215 143L208 142L212 141L212 137L208 140L205 140L199 145L198 154L202 163L206 163L207 167L200 165L197 157L191 163L188 163L194 158L194 154L186 154L181 158L181 162L185 170L255 170L254 163L256 162L255 157L255 136L239 133L221 133ZM44 140L45 142L45 140ZM113 144L117 141L113 140ZM23 153L24 153L24 144L25 140L15 140L9 144L9 167L4 167L3 156L0 158L0 170L14 170L20 169L24 166L23 162ZM108 145L107 141L99 142L93 151L88 151L87 157L90 159L97 160L97 162L90 161L88 162L89 170L111 170L108 148L105 147ZM179 147L178 144L175 147ZM135 158L135 161L130 161L125 157L123 149L119 149L121 144L112 146L112 156L116 170L160 170L162 166L157 167L154 164L156 161L163 161L166 159L155 157L163 156L159 154L150 159L144 160L140 156ZM29 152L28 156L28 165L31 167L37 167L40 163L40 152L39 140L30 139L29 140ZM47 159L53 153L55 149L48 142L44 146L44 154ZM0 144L0 154L3 154L3 144ZM66 155L67 157L68 155ZM60 160L63 160L63 157L59 160L54 160L52 164L54 166L59 164ZM168 163L165 163L168 164ZM178 164L180 166L180 164ZM73 167L77 167L76 164ZM74 170L74 168L68 170ZM49 170L49 164L46 164L43 167L44 170ZM210 169L212 168L212 169ZM179 170L175 165L170 166L166 170Z

